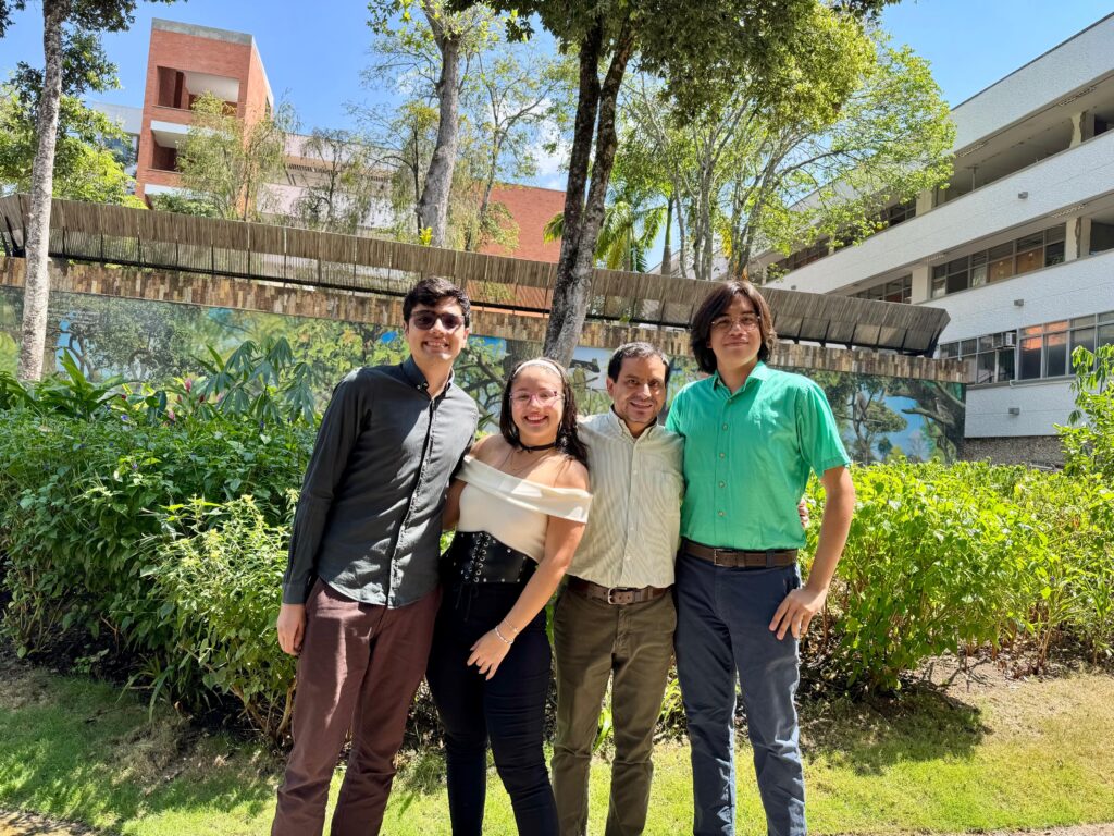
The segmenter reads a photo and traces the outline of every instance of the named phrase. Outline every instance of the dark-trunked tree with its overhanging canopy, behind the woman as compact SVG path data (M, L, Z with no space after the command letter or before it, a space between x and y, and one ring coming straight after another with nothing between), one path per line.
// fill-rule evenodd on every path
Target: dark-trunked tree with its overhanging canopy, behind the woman
M739 78L761 100L807 87L793 59L810 46L820 6L861 20L887 0L450 0L455 10L487 6L528 37L539 21L578 60L577 109L569 155L560 261L546 333L547 354L568 362L587 314L590 275L618 145L617 98L628 66L661 78L678 111L721 105Z

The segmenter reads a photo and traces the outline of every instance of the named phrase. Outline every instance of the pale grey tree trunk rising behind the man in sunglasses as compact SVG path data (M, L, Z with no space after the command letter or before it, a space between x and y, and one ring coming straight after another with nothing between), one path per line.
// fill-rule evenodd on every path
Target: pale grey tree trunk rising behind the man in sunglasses
M418 201L418 218L422 229L430 231L430 243L444 246L460 121L460 38L430 11L427 11L427 18L441 52L441 76L437 80L437 145L426 173L426 187Z

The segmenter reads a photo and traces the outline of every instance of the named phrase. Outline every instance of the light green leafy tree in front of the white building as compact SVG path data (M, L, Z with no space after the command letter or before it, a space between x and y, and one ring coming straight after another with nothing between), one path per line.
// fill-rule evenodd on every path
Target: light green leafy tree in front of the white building
M950 175L954 128L927 62L824 7L807 31L795 86L743 77L695 115L653 79L628 86L620 154L677 198L682 274L711 279L721 253L743 275L755 246L860 240L882 207Z

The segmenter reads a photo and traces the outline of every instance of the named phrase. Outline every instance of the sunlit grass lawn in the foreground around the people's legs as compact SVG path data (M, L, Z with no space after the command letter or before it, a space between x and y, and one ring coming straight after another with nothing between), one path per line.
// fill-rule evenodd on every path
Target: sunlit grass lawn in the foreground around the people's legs
M1114 822L1114 677L1012 682L984 667L947 698L876 710L831 702L802 715L817 834L960 832ZM658 747L649 834L691 827L687 748ZM593 770L603 829L607 765ZM740 833L760 834L750 755L739 751ZM333 794L340 774L333 782ZM109 686L17 667L0 673L0 808L123 834L265 834L278 767L262 747L198 736ZM486 830L514 833L491 774ZM411 756L384 832L449 833L443 771Z

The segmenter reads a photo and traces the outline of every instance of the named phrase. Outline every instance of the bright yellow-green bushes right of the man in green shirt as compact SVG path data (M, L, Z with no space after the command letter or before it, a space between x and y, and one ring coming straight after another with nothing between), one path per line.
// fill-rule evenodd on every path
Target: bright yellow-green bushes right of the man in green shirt
M851 534L804 648L828 673L897 690L932 655L1019 638L1038 669L1061 636L1110 652L1114 503L1097 480L986 463L853 476Z

